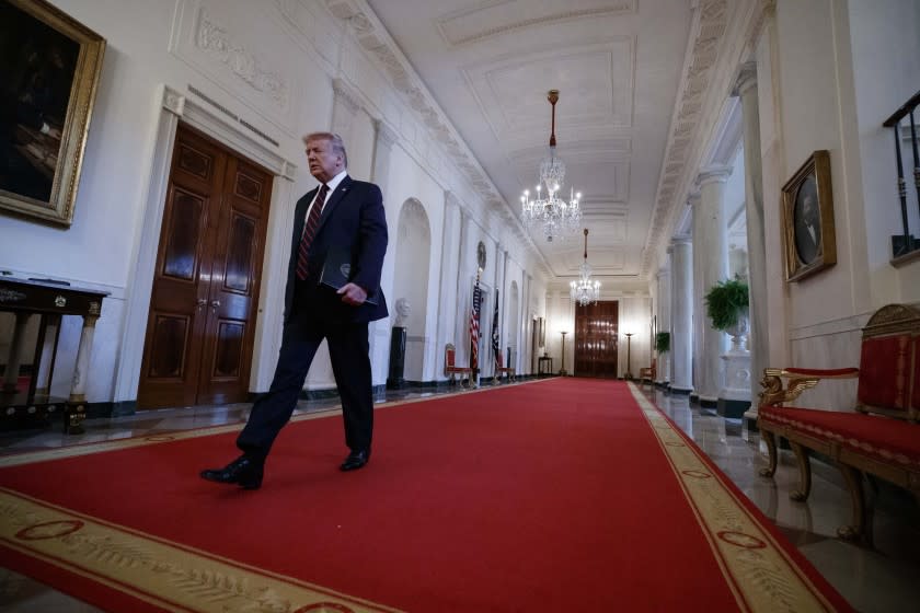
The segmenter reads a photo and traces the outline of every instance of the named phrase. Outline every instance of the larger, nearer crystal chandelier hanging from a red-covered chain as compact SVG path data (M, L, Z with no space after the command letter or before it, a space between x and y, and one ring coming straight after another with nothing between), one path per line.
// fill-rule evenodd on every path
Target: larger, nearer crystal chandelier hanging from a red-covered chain
M553 236L564 238L580 225L582 209L578 201L582 193L575 193L575 189L570 187L568 201L559 197L565 181L565 164L555 154L555 103L559 102L559 90L550 90L547 100L553 107L550 154L540 163L540 183L537 185L534 199L530 198L530 190L525 189L520 203L525 224L528 228L542 225L547 242L552 242Z

